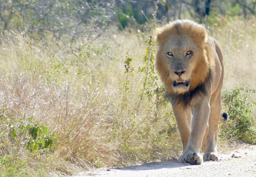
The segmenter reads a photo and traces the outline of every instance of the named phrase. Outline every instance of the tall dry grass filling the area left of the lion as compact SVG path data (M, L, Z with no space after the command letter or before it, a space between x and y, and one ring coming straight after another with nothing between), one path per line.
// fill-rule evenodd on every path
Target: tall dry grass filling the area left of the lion
M70 174L79 168L120 166L177 154L179 149L173 150L177 136L167 133L175 129L173 119L165 115L171 115L171 108L159 114L163 122L154 120L153 103L146 98L140 111L135 111L141 74L132 78L128 105L124 104L120 85L125 80L125 55L117 58L107 44L88 44L71 53L54 39L38 41L13 32L6 32L1 42L1 104L4 115L16 115L7 121L27 115L56 129L58 135L52 149L31 154L26 140L11 148L14 140L5 128L8 122L3 121L1 133L7 134L1 134L0 140L1 175ZM38 166L42 168L36 170Z

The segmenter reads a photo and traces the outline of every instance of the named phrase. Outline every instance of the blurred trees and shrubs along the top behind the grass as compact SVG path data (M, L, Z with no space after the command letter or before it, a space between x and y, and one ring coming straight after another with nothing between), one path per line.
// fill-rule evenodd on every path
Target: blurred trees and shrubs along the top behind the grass
M256 13L256 0L1 0L0 31L50 31L70 40L97 37L109 26L146 28L156 7L155 18L161 23L184 18L202 23L220 15L248 18Z

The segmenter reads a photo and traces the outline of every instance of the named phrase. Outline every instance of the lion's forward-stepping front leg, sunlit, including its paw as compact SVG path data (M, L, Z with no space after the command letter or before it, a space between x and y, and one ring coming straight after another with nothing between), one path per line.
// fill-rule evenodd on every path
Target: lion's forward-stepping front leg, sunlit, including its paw
M202 164L203 159L200 155L200 148L208 124L209 115L210 105L207 99L201 100L200 104L195 105L191 133L186 149L179 159L180 163L189 163L191 165Z

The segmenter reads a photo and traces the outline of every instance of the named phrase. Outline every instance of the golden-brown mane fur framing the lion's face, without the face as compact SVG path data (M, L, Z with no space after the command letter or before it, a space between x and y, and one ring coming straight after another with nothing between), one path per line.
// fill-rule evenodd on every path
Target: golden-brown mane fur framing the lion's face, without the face
M195 67L193 74L194 78L191 79L191 89L195 89L196 86L202 84L206 79L209 69L212 68L211 65L211 53L208 53L209 47L207 45L207 31L206 29L193 21L190 20L177 20L173 23L166 24L165 26L157 29L157 60L156 60L156 69L164 82L167 90L172 93L172 83L168 81L168 70L166 70L166 65L163 62L163 57L166 57L165 54L162 53L162 45L166 42L166 40L171 35L187 35L193 39L195 44L201 49L202 55L199 58L200 62L198 62L197 67Z

